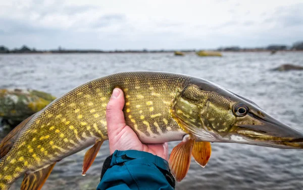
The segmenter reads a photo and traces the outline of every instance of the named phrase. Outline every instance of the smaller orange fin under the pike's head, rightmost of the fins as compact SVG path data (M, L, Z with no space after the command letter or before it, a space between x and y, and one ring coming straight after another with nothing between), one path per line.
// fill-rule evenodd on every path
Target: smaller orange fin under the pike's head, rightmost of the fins
M194 142L191 154L200 166L206 166L211 157L211 153L212 147L210 142Z

